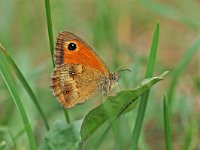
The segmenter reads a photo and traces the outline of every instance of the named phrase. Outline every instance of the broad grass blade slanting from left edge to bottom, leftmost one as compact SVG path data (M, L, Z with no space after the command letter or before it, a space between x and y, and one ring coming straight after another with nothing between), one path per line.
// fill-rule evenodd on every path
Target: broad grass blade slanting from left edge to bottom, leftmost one
M26 111L22 105L21 99L17 93L17 90L15 88L14 85L14 81L11 77L11 70L9 69L9 65L7 62L7 59L3 56L0 55L0 69L1 69L1 75L3 77L3 80L8 88L8 91L17 107L17 109L20 112L20 115L22 117L23 123L24 123L24 128L26 130L26 134L28 136L28 140L30 143L30 148L32 150L36 150L37 146L35 143L35 139L34 139L34 135L33 135L33 131L31 129L31 125L29 123L28 117L26 115Z

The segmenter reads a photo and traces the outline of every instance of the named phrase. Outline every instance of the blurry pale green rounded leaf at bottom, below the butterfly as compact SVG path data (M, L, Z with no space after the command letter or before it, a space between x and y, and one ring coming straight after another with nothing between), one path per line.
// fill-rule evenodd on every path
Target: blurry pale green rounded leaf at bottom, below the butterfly
M40 150L78 149L80 136L72 124L56 121L40 146Z

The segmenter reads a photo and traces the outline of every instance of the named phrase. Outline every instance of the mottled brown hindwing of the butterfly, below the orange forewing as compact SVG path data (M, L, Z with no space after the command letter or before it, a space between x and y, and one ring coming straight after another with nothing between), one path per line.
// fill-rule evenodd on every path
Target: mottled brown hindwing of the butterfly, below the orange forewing
M91 67L78 64L63 64L51 75L53 94L65 107L91 99L99 90L104 75Z

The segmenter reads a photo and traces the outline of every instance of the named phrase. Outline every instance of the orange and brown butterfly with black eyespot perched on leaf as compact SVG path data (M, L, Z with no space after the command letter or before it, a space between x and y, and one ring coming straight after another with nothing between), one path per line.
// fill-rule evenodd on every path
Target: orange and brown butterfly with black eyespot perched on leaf
M109 72L86 42L67 31L57 36L54 62L50 87L65 108L84 103L99 92L108 94L120 78L118 72Z

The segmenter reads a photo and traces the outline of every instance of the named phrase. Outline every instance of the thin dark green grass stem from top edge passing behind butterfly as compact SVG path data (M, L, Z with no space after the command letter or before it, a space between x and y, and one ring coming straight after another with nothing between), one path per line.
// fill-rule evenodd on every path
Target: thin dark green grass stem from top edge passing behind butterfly
M47 17L47 28L48 28L48 35L49 35L49 44L50 44L50 50L51 50L51 59L53 63L53 67L55 67L54 59L53 59L53 53L54 53L54 40L53 40L53 28L52 28L52 20L51 20L51 7L50 7L50 1L45 0L45 8L46 8L46 17ZM63 111L65 114L65 119L68 123L70 123L69 114L67 109L63 107Z

